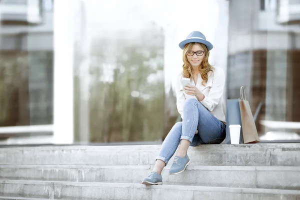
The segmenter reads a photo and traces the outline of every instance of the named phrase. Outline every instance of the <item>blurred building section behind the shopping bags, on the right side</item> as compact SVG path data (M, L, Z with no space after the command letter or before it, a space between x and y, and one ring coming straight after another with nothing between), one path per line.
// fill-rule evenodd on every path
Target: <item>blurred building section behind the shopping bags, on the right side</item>
M262 140L299 139L298 0L229 0L228 98L246 88Z

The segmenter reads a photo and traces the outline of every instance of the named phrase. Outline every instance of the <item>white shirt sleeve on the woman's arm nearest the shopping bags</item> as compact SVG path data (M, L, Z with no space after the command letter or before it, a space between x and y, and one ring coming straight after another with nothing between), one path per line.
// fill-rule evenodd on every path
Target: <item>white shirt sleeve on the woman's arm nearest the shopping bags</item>
M223 69L215 68L212 80L212 86L209 89L208 95L205 96L200 102L209 110L212 111L218 104L223 95L225 84L225 74Z

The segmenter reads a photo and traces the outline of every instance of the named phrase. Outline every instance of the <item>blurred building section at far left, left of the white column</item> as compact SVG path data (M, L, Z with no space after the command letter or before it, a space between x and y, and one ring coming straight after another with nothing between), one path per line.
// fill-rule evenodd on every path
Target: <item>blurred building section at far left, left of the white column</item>
M2 0L0 21L2 143L35 134L47 142L53 134L53 0Z

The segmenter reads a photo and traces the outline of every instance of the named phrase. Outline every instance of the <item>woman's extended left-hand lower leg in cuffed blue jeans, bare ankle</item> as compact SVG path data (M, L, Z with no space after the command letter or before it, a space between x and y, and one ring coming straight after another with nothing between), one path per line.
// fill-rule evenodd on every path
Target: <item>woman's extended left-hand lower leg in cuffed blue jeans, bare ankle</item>
M182 130L182 122L177 122L173 125L169 133L166 135L158 156L156 157L155 166L153 171L161 173L163 167L167 164L169 159L173 156L175 150L178 147Z

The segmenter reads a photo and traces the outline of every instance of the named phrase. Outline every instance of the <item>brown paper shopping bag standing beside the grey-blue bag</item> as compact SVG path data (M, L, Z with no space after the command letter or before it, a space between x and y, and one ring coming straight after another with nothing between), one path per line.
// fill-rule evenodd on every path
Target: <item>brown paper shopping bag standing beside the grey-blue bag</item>
M240 87L241 97L239 99L239 109L241 118L241 128L244 143L257 143L260 141L249 102L245 97L244 87Z

